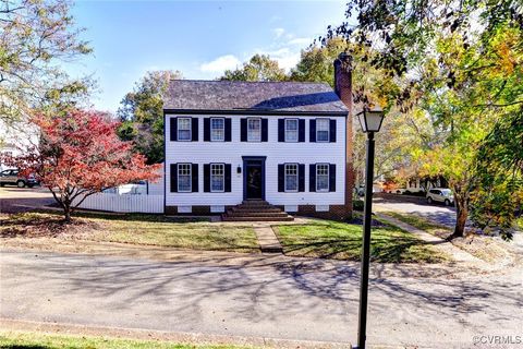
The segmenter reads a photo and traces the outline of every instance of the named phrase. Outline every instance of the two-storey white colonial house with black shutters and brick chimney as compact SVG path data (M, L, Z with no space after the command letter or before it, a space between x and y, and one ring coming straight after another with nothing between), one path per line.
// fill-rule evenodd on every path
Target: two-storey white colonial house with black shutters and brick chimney
M165 98L165 213L266 201L288 213L352 213L351 72L323 83L171 81Z

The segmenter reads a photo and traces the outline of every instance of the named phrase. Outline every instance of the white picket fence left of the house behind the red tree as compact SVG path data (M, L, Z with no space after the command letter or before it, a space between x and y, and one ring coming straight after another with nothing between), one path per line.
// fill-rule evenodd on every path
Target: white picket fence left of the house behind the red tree
M121 213L163 213L163 195L97 193L87 196L80 208Z

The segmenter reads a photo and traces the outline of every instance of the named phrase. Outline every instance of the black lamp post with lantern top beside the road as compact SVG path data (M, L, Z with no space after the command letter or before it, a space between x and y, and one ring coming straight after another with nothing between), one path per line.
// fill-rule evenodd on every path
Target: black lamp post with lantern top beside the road
M357 323L357 348L365 349L367 333L368 270L370 267L370 225L373 214L374 182L374 133L379 132L385 113L381 109L364 109L356 115L363 132L367 134L365 169L365 206L363 212L363 250L360 276L360 314Z

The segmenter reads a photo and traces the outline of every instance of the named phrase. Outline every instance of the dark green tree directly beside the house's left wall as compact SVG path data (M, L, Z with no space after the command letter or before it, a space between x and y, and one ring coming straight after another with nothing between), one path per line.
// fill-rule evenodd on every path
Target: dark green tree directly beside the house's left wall
M144 154L148 164L163 160L163 95L173 79L182 79L182 74L179 71L147 72L118 109L122 121L118 134L124 141L133 141L135 151Z

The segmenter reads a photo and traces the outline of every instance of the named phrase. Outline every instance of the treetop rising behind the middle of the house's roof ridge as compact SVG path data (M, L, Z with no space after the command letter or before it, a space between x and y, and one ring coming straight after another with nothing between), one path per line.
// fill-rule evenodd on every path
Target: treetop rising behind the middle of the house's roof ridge
M226 70L220 80L230 81L285 81L285 71L266 55L254 55L242 68Z

